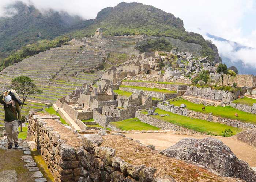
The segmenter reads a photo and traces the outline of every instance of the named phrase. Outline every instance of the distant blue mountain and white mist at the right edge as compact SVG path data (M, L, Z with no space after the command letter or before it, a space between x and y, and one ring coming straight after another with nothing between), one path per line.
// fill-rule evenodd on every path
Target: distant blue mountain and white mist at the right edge
M225 63L227 67L235 66L238 74L256 75L256 50L254 48L209 33L206 33L206 36L217 45L222 63Z

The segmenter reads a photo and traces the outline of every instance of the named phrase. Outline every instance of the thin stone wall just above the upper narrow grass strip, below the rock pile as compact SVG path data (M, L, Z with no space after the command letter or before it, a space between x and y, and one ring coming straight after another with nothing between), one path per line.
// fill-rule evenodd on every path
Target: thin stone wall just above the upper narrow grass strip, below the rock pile
M140 81L152 81L152 82L172 82L172 83L183 83L183 84L192 84L192 79L165 79L162 77L156 77L152 75L136 75L126 78L127 80L140 80Z

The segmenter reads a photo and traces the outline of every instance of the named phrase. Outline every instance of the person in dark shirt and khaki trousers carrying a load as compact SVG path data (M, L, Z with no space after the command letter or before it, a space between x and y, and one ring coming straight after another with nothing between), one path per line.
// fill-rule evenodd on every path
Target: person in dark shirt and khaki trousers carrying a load
M21 124L21 114L19 103L12 99L12 96L9 95L9 93L10 90L4 91L4 93L0 96L0 103L4 105L5 132L8 139L8 149L11 149L13 141L15 148L19 147L18 127Z

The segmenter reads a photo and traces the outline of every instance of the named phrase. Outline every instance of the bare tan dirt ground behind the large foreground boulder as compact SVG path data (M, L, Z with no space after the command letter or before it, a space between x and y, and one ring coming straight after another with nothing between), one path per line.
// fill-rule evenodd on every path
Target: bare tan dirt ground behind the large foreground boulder
M140 133L140 134L125 134L127 137L133 138L133 140L139 140L141 143L145 145L154 145L156 149L163 150L166 149L183 138L197 138L203 139L209 137L207 135L177 135L173 134L173 132L167 133ZM238 159L244 160L248 162L251 167L256 167L256 150L253 147L247 145L244 142L237 141L235 138L228 137L219 137L219 136L211 136L213 138L217 138L225 143L233 153L237 156Z

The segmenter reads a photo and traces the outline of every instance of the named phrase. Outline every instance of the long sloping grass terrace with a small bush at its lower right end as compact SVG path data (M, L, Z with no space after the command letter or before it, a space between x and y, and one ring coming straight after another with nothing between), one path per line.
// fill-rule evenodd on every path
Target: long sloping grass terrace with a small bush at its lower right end
M239 128L227 126L226 124L214 123L201 119L191 119L189 117L173 114L172 112L167 112L159 108L156 108L155 112L157 112L159 115L150 115L149 117L154 117L207 135L221 135L222 131L225 129L230 129L233 134L237 134L237 132L242 131ZM147 112L142 113L147 114ZM161 114L169 114L169 116L161 117Z

